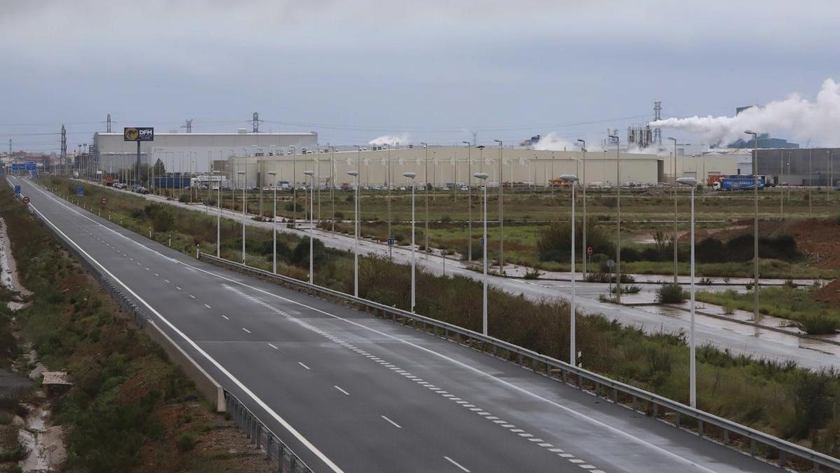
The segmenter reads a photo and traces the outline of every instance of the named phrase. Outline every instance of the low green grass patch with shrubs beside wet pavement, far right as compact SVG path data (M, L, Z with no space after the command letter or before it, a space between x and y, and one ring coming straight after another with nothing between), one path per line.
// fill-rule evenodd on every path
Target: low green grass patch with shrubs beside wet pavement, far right
M759 313L780 317L799 324L808 333L833 333L840 327L840 309L817 302L811 297L813 289L791 287L759 290ZM722 292L699 291L696 299L708 304L753 311L753 293L735 290Z

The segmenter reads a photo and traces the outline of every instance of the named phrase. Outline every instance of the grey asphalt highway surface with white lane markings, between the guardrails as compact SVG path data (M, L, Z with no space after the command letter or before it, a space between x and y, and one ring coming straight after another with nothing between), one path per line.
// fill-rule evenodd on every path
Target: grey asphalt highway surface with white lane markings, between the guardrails
M316 472L777 471L516 364L198 262L10 180Z

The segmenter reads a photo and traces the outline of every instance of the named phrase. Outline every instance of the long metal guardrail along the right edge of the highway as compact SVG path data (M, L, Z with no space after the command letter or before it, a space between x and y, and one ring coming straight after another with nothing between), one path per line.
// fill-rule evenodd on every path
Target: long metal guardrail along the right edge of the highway
M801 445L793 444L781 438L774 437L767 433L759 432L754 428L734 423L722 417L717 417L709 412L694 409L680 402L670 400L652 392L644 391L633 385L611 380L606 376L598 375L586 369L568 364L559 359L533 352L528 348L522 348L512 343L507 343L498 338L488 337L479 332L473 332L463 327L458 327L447 322L413 314L395 307L386 306L373 300L366 300L354 295L345 294L338 290L331 290L318 284L309 284L305 281L290 278L282 274L273 274L260 268L253 268L243 263L236 263L223 258L217 258L204 252L199 253L199 259L207 259L214 263L221 263L233 268L238 268L253 274L259 274L268 279L274 279L296 288L315 292L321 295L328 295L339 300L348 300L360 306L365 306L378 311L381 316L391 318L402 325L412 327L423 332L433 333L438 337L444 337L456 343L479 349L483 353L491 353L497 358L507 359L520 366L529 367L535 373L549 376L555 380L562 380L566 384L575 385L582 391L588 391L594 396L601 397L606 401L612 401L632 409L634 412L641 412L650 415L675 428L684 428L696 432L704 438L720 439L722 444L736 447L739 442L744 448L748 448L749 454L756 456L764 453L767 460L775 460L779 465L786 465L800 459L813 465L813 470L820 471L821 467L830 470L840 470L840 460L822 454ZM673 417L673 420L666 420ZM759 451L762 450L762 451Z

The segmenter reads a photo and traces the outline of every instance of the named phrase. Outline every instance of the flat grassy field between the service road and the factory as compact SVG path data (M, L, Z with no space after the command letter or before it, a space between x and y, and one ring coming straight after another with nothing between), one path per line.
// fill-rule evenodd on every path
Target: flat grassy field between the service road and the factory
M488 193L488 250L491 259L498 258L500 232L498 230L498 189ZM593 247L593 263L601 263L615 258L615 216L617 201L614 190L587 190L587 246ZM759 194L759 211L762 219L761 274L765 278L775 279L834 279L840 277L840 265L815 264L812 255L803 251L802 242L790 235L765 236L768 228L780 227L778 208L780 192L778 189ZM673 247L671 237L673 226L669 223L674 218L673 200L669 189L623 189L622 190L622 269L634 274L671 274L673 272ZM168 189L165 194L183 202L191 201L189 191ZM320 194L320 199L318 198ZM354 193L349 190L336 190L336 231L352 234L354 217ZM261 197L260 197L261 195ZM306 219L308 191L297 191L297 204L293 205L290 190L277 193L277 212L284 219L291 219L297 208L297 219ZM268 217L272 210L270 191L248 191L246 194L248 210ZM822 197L822 194L821 194ZM207 190L193 192L192 202L208 199ZM218 191L209 193L210 202L217 205ZM329 189L315 192L315 219L332 219L332 201ZM689 194L680 192L679 215L680 235L687 230ZM320 206L318 201L320 200ZM582 196L578 194L577 216L582 218ZM261 205L260 205L261 202ZM440 190L429 192L429 247L457 252L464 258L467 254L469 233L467 230L468 199L465 191ZM505 261L545 271L568 271L569 266L569 189L505 189ZM241 189L222 193L225 208L241 210ZM480 196L474 191L472 196L473 218L473 259L480 258ZM391 234L398 245L406 245L411 238L411 199L409 191L391 192ZM425 194L417 191L417 242L423 247L425 235ZM826 199L814 199L812 214L816 219L833 221L837 213L836 202ZM387 231L387 192L386 190L362 189L360 191L361 236L385 242ZM748 193L719 193L707 190L698 194L696 199L697 223L697 265L696 273L708 277L750 277L753 274L751 263L752 233L748 235L731 234L719 238L716 231L733 226L743 226L738 219L750 219L753 215L753 196ZM806 195L785 195L785 217L806 219L809 206ZM344 221L344 222L342 222ZM582 251L582 221L577 225L577 242ZM324 228L332 228L332 223ZM664 231L663 231L664 230ZM785 247L788 245L788 247ZM792 246L791 246L792 245ZM781 251L780 251L781 249ZM678 243L680 274L689 274L689 247L687 238L680 237ZM746 251L744 251L746 250ZM582 254L579 253L579 254ZM825 254L823 254L825 257ZM578 258L578 267L581 262Z

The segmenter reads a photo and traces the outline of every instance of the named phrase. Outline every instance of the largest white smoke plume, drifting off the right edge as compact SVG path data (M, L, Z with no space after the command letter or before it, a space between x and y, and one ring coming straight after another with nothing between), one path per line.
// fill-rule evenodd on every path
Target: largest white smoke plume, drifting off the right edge
M735 116L669 118L651 125L700 135L710 144L726 145L738 138L748 141L749 136L743 132L753 130L793 141L813 140L820 146L838 146L840 84L826 79L813 101L792 93L784 100L746 109Z

